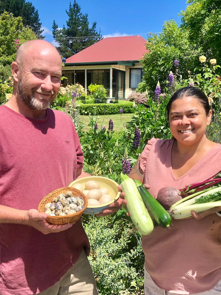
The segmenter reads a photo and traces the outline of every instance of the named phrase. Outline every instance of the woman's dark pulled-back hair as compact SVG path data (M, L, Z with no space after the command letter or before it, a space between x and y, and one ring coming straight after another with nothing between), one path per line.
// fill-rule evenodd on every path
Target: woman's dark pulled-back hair
M208 97L206 96L206 94L204 94L201 90L199 90L196 87L193 86L189 86L189 87L184 87L184 88L180 88L179 90L177 90L176 92L174 92L174 94L171 96L167 106L166 106L166 112L167 112L167 118L169 119L169 112L170 112L170 108L172 103L178 99L178 98L182 98L183 96L193 96L196 99L199 100L199 102L202 104L206 115L209 114L210 112L210 104L208 101Z

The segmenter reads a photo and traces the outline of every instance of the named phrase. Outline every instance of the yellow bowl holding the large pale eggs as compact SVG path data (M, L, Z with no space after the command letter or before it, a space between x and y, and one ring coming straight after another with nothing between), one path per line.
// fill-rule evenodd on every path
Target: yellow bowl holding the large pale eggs
M85 190L85 183L89 180L95 180L100 184L100 188L106 187L109 190L109 195L112 196L112 201L106 203L106 204L100 204L99 206L88 206L84 213L86 214L99 214L103 211L103 209L108 208L108 205L113 203L119 198L120 191L118 191L118 184L113 181L112 179L109 179L107 177L103 176L88 176L76 179L72 183L69 184L69 187L72 187L75 183L80 183L83 186L83 189ZM84 191L83 191L84 192Z

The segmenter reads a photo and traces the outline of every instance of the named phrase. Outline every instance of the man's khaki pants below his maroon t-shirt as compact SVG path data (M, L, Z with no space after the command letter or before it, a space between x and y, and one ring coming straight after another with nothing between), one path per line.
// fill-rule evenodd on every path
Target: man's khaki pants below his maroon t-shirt
M98 295L93 272L83 250L59 282L38 295Z

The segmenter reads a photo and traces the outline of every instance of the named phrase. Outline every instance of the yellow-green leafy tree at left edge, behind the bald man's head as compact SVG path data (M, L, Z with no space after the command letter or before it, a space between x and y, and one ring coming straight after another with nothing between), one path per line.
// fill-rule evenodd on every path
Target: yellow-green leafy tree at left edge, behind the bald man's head
M0 15L0 63L7 65L12 63L16 57L15 39L20 44L27 40L36 39L34 32L23 27L22 17L14 17L13 14L3 12Z

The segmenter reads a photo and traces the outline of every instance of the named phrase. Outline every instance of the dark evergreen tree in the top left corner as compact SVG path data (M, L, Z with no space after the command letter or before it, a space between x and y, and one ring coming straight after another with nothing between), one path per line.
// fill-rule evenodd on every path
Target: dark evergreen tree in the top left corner
M14 17L22 17L23 25L32 28L38 38L44 38L41 35L42 23L39 19L38 11L32 5L32 2L25 0L0 0L0 13L3 11L13 13Z

